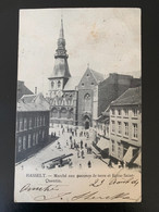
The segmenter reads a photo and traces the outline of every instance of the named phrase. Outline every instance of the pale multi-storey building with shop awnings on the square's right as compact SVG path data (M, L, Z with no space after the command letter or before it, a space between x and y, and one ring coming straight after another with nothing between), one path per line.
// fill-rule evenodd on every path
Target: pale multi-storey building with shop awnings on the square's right
M140 166L142 87L129 88L110 104L110 155Z

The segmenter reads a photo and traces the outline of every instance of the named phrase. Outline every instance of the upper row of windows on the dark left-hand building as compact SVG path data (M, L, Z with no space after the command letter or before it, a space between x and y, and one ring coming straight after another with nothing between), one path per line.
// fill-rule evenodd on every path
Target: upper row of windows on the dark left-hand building
M32 129L38 126L46 125L46 117L45 116L37 116L37 117L20 117L16 120L16 132Z

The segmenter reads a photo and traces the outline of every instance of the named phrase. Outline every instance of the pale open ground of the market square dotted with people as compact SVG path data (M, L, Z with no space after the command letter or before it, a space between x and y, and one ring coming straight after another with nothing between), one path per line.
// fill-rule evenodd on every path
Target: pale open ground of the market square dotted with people
M36 170L36 171L41 171L41 164L48 160L51 160L57 157L61 157L63 154L73 154L70 157L72 160L72 169L73 167L78 167L78 169L88 169L88 161L90 161L90 166L105 166L108 167L106 163L103 163L101 160L97 159L97 157L93 153L93 151L87 152L87 148L93 149L91 142L93 142L93 132L91 129L87 130L86 135L89 134L89 138L87 138L86 135L84 135L85 130L78 127L76 130L76 136L72 135L71 132L68 133L66 128L64 128L64 132L62 133L63 128L61 127L50 127L49 134L51 135L56 133L56 136L59 138L41 149L39 152L37 152L35 155L32 158L27 159L26 161L21 162L20 164L16 165L16 169L19 170L25 170L29 171ZM81 132L83 132L83 135L80 135ZM70 139L72 137L72 139ZM71 141L72 140L72 141ZM83 142L83 147L81 148L81 141ZM75 147L75 145L78 145L78 150ZM71 148L72 146L72 148ZM83 154L83 157L82 157ZM69 164L65 164L62 166L64 169L65 166L69 166ZM58 169L58 167L56 167ZM109 169L109 167L108 167Z

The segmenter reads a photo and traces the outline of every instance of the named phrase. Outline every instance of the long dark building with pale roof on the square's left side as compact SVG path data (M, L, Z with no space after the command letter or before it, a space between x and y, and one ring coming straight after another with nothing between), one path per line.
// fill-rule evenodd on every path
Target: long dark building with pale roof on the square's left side
M24 95L16 105L16 162L35 153L49 141L50 105L39 95Z

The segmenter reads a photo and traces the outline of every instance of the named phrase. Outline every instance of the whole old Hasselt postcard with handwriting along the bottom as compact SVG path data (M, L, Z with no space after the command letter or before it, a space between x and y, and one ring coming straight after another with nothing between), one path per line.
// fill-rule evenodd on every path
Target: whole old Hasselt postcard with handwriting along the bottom
M140 202L140 9L26 9L19 27L14 201Z

